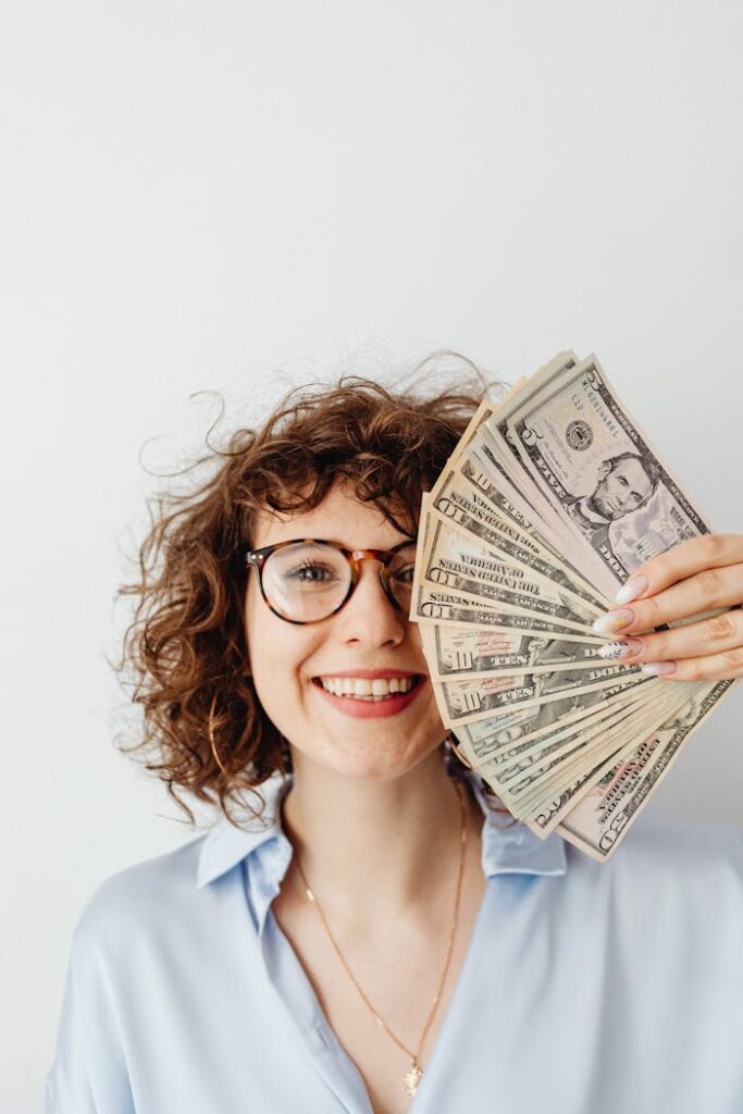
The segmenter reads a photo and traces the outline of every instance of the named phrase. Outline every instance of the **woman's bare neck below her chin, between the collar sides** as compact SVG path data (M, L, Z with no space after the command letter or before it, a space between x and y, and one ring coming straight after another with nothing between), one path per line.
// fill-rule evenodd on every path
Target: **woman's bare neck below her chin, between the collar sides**
M424 912L459 858L459 793L441 750L392 780L346 778L296 751L292 764L282 822L323 906L359 924ZM465 800L469 839L479 807Z

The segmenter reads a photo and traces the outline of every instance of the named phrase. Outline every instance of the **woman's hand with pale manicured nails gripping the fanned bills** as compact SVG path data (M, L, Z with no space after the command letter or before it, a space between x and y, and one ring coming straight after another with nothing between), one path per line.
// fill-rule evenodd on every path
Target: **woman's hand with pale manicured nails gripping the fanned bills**
M743 535L706 534L651 558L619 588L619 608L596 619L622 641L600 649L672 681L743 676ZM629 606L627 606L629 605ZM643 634L702 612L734 608L673 631Z

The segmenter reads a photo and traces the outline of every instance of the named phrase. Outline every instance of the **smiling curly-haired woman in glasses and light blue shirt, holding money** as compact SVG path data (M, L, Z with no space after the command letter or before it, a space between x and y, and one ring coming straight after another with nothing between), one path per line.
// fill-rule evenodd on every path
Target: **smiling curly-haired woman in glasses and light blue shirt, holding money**
M48 1114L743 1108L743 833L651 809L598 866L439 719L417 515L486 387L290 397L159 504L125 665L148 769L225 819L89 900ZM643 575L630 633L743 599L743 538ZM630 661L740 675L742 615Z

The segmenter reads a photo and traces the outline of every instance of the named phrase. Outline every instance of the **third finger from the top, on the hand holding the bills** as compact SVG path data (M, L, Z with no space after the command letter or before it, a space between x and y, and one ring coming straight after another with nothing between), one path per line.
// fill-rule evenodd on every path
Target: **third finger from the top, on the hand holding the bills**
M627 636L602 647L599 654L604 658L637 665L646 662L681 662L684 658L722 658L729 652L740 653L741 646L743 610L735 608L672 631L657 631L642 637ZM726 664L734 665L735 662L731 659Z

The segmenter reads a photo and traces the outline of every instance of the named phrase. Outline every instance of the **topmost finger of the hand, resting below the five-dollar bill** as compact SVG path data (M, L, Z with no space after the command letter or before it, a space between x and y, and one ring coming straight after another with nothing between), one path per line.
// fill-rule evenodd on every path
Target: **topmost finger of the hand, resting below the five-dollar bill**
M705 569L743 563L743 535L704 534L673 546L638 568L617 593L617 604L654 596L672 584Z

